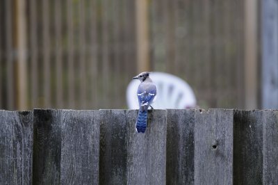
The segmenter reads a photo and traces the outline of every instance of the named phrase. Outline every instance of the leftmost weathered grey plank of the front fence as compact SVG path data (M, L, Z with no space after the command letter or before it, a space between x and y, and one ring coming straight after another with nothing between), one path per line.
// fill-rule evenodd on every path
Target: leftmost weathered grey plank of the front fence
M0 184L32 184L32 112L0 111Z

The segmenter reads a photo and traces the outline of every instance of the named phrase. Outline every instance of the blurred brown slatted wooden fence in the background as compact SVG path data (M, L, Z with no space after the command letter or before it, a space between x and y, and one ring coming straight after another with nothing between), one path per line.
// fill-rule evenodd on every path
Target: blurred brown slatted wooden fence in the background
M0 109L126 108L142 70L202 108L259 108L259 1L1 0Z

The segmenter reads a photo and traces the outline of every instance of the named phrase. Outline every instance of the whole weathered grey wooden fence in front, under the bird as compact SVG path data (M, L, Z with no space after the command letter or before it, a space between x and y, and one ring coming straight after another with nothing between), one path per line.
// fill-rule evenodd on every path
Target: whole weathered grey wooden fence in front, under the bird
M0 184L278 184L278 111L0 111Z

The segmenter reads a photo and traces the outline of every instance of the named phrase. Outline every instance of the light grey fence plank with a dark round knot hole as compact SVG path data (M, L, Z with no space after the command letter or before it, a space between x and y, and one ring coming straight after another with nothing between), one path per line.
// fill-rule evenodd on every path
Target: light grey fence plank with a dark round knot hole
M233 184L233 113L195 112L195 184Z

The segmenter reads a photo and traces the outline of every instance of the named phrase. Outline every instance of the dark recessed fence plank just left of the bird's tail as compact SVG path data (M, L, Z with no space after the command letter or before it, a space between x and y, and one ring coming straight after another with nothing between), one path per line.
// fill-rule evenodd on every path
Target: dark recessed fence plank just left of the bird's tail
M125 114L125 111L101 111L100 184L126 184L126 124L129 123Z

